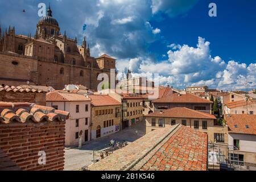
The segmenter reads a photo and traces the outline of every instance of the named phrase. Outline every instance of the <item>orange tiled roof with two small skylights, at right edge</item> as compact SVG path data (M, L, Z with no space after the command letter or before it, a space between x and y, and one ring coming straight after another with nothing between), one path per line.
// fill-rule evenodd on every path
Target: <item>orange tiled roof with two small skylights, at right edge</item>
M225 115L225 120L229 128L229 133L256 135L256 115Z

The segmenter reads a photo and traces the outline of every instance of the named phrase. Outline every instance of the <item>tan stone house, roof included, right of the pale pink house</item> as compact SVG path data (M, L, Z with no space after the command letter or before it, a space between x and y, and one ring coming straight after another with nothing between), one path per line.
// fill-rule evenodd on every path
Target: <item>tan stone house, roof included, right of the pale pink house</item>
M92 106L91 139L121 130L121 102L107 95L89 95Z

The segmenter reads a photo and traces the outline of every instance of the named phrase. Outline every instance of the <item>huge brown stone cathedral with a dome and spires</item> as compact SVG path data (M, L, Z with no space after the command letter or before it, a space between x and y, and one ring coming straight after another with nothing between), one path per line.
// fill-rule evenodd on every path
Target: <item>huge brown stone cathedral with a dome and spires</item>
M39 19L34 38L31 34L16 35L15 28L5 31L0 26L0 84L47 85L63 89L65 85L84 85L97 90L100 73L110 77L115 69L115 59L108 55L90 56L86 38L77 45L77 38L60 33L59 23L52 16L49 6L47 15Z

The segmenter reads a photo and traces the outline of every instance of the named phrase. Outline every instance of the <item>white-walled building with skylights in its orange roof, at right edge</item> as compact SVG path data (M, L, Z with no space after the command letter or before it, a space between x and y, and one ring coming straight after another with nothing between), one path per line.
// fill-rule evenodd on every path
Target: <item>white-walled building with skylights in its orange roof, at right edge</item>
M256 170L256 115L225 115L229 127L229 162L239 168Z

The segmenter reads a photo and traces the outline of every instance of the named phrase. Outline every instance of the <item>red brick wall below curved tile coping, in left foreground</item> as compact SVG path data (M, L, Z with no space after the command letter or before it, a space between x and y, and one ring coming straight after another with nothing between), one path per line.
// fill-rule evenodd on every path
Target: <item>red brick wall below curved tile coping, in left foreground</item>
M65 122L0 124L0 150L22 170L64 169ZM46 152L46 164L39 165L39 151Z

